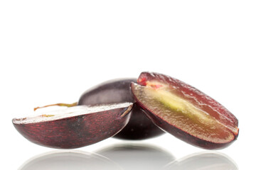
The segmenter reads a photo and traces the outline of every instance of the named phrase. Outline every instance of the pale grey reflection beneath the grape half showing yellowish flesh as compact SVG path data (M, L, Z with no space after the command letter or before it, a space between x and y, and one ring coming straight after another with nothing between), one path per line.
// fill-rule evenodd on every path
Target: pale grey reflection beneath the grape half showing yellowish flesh
M164 170L238 170L235 162L217 152L196 153L171 162Z

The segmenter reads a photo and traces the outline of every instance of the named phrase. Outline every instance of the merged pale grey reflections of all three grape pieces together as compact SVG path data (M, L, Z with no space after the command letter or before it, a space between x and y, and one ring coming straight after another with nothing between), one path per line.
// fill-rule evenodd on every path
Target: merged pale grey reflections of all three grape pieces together
M225 154L201 152L182 159L152 145L113 145L97 154L55 151L25 162L18 170L238 170Z

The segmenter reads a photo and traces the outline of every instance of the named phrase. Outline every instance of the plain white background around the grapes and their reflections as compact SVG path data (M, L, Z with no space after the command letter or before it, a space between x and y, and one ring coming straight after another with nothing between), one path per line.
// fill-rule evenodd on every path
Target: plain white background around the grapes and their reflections
M28 142L11 119L73 103L95 84L150 71L181 79L239 120L228 155L255 167L255 1L0 1L1 166L55 149ZM107 139L78 150L122 144ZM201 152L166 134L139 142L177 159Z

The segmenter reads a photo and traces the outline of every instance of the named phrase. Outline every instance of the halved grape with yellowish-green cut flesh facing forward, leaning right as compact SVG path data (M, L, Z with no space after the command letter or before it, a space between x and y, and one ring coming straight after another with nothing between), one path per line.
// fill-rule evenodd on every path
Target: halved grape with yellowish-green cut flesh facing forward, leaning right
M156 125L181 140L211 149L238 137L238 120L201 91L163 74L144 72L132 92ZM141 84L141 85L140 85Z

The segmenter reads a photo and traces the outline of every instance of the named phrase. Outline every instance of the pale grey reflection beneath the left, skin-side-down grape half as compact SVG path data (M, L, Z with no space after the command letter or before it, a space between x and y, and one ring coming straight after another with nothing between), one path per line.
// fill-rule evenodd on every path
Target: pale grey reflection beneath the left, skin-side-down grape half
M120 170L117 164L98 154L88 152L50 152L28 160L19 170Z

